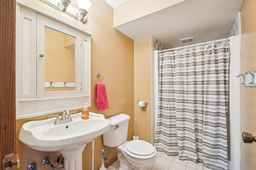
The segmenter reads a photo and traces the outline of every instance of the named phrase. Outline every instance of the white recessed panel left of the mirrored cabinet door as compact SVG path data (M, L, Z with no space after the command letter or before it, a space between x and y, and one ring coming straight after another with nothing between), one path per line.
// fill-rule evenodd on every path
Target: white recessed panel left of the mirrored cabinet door
M16 78L20 84L19 99L36 98L36 12L16 8Z

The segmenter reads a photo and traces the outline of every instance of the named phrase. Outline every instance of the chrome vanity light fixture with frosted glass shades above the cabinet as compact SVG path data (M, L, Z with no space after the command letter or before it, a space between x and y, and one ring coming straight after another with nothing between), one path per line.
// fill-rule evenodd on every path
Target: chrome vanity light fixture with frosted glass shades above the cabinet
M60 10L65 14L75 18L76 20L85 23L87 21L87 14L89 8L92 6L90 0L40 0L41 2ZM72 2L76 1L78 8L70 5Z

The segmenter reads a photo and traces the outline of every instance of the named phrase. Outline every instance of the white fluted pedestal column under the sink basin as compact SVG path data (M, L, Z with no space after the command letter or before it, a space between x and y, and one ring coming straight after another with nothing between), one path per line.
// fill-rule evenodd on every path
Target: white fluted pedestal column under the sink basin
M65 170L82 170L82 152L85 146L86 144L73 149L60 151L64 157Z

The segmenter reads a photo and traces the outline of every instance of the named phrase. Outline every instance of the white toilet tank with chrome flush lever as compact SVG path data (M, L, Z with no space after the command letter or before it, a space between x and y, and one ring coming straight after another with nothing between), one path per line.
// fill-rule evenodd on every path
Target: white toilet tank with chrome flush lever
M107 119L110 121L111 127L103 134L103 143L108 147L118 147L127 139L130 116L121 113Z

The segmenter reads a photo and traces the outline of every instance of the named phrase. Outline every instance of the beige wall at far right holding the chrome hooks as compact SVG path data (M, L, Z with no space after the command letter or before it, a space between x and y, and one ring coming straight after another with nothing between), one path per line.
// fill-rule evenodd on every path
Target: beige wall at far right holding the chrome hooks
M256 70L256 1L244 0L241 9L241 73ZM256 136L255 87L241 86L241 134ZM256 143L243 143L241 138L241 170L256 167Z

